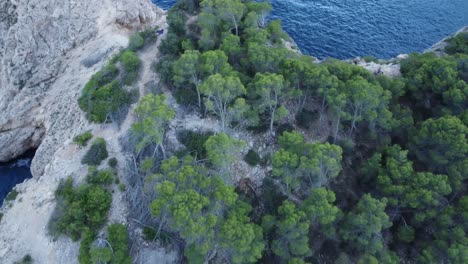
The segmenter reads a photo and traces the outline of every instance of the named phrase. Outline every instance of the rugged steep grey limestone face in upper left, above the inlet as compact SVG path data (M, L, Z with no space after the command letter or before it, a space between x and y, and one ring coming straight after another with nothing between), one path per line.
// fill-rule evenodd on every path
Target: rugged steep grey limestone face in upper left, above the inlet
M95 68L80 61L107 58L162 13L149 0L0 1L0 161L39 148L41 175L86 122L75 99Z

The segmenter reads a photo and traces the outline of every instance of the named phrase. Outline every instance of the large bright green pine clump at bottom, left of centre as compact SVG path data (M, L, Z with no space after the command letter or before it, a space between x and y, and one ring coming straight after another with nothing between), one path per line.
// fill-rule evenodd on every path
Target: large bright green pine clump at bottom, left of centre
M165 215L161 224L187 241L189 262L198 263L214 248L232 263L260 259L263 235L248 217L251 207L220 177L207 177L205 168L192 164L191 157L163 162L161 174L154 176L159 184L152 215L158 219Z

